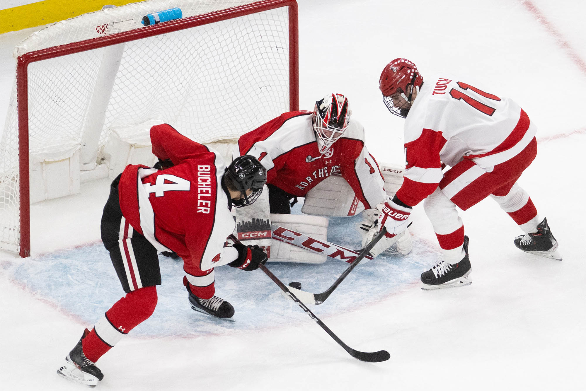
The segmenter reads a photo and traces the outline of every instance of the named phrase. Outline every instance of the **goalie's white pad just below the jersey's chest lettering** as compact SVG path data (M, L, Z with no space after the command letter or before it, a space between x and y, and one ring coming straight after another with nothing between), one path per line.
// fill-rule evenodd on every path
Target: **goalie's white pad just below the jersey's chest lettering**
M301 212L319 216L353 216L364 210L352 187L333 174L305 194Z

